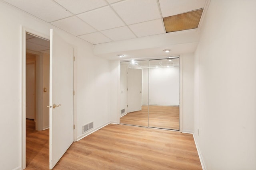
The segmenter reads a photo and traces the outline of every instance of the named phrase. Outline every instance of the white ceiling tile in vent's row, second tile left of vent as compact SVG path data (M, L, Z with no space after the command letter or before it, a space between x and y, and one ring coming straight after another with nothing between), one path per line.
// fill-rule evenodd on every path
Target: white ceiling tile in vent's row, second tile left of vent
M127 26L108 29L101 32L114 41L136 38Z

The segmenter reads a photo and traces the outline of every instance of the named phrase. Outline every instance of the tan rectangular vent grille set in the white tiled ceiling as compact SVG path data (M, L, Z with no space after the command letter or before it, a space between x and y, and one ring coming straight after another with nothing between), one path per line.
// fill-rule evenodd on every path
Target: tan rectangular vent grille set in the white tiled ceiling
M198 27L204 8L163 18L166 33Z

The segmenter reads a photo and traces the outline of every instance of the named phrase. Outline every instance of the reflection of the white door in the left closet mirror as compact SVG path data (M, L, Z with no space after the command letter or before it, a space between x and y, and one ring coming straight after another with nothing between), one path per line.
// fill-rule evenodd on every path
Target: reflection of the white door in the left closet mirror
M127 113L130 113L141 110L142 69L128 67L127 74Z

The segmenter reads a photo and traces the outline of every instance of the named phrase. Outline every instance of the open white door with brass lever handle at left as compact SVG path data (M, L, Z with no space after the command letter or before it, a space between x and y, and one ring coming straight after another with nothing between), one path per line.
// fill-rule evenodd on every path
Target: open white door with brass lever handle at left
M50 169L74 141L74 49L50 30ZM54 104L58 107L54 108Z

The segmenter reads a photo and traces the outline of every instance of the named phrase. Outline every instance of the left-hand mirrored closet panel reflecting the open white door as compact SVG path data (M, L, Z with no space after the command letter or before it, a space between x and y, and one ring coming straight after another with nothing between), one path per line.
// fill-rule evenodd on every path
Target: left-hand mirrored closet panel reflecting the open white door
M143 92L148 89L147 70L148 61L120 63L121 124L148 127L148 92Z

